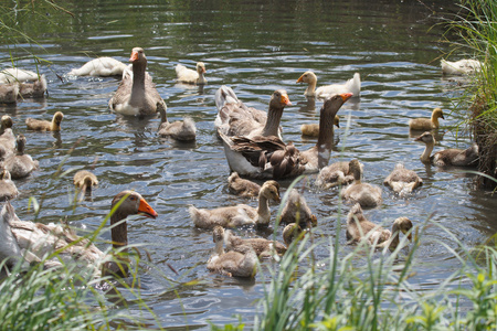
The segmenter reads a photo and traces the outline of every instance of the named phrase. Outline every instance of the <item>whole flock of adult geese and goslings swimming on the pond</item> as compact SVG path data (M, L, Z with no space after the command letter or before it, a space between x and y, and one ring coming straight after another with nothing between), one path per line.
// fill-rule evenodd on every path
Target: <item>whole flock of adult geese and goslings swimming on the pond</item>
M197 130L194 121L186 117L181 121L169 122L167 106L156 89L151 76L147 73L147 58L140 47L133 49L126 65L112 57L99 57L86 63L81 68L71 71L75 76L121 76L120 83L108 102L108 108L124 116L156 116L160 114L161 124L158 135L172 139L194 140ZM458 73L477 70L473 63L448 63L442 66L454 67ZM205 65L201 62L195 70L178 64L176 66L178 82L188 84L205 84ZM444 71L445 72L445 71ZM457 71L456 71L457 72ZM448 72L447 72L448 73ZM319 125L310 131L303 128L303 135L317 136L317 142L310 149L298 150L293 142L284 142L281 119L286 106L292 105L284 89L275 90L271 97L268 110L247 107L234 90L221 86L215 93L218 115L214 127L223 145L231 175L228 178L230 192L241 196L257 199L257 207L247 204L218 209L197 209L189 206L189 214L195 227L212 229L214 253L208 261L208 269L236 277L253 277L258 258L282 255L288 245L306 234L306 229L317 225L317 217L311 213L305 199L293 189L288 192L287 202L279 216L278 224L285 224L283 241L265 238L241 238L230 228L255 226L267 228L271 223L269 202L279 203L278 180L295 178L300 174L317 173L316 185L321 190L339 186L340 196L350 202L351 209L347 217L347 239L349 243L366 241L376 247L395 248L400 243L400 234L411 239L413 228L408 217L399 217L392 229L384 229L370 222L363 209L374 207L382 203L382 189L362 181L363 164L359 160L329 163L332 148L334 125L339 126L337 113L350 98L360 96L360 75L345 84L317 86L317 77L313 72L304 73L297 83L306 83L305 96L324 99L320 108ZM20 68L0 72L0 103L17 103L25 97L43 97L46 93L44 75ZM56 111L51 121L28 118L25 125L30 130L59 131L64 115ZM416 118L409 121L411 130L424 131L415 140L425 143L421 161L435 166L473 167L477 162L478 150L473 145L466 150L447 149L432 154L435 138L432 130L440 127L438 119L443 111L435 108L431 118ZM112 201L110 209L115 213L110 217L114 250L105 254L86 238L78 237L63 225L41 224L21 221L15 215L10 200L19 194L12 180L28 177L39 164L24 153L25 137L12 131L13 121L4 115L1 118L0 131L0 200L7 201L0 215L0 259L8 259L9 265L43 260L46 254L60 250L59 257L44 260L49 267L56 267L62 261L77 260L82 267L88 268L95 276L126 275L126 260L114 254L126 252L128 243L126 220L128 215L140 214L157 217L157 212L137 192L123 191ZM266 180L263 185L250 179ZM91 191L98 180L89 171L82 170L74 175L74 185L82 192ZM410 194L422 185L421 178L412 170L398 163L385 178L384 184L400 195ZM117 224L117 225L116 225ZM74 244L74 242L77 242Z

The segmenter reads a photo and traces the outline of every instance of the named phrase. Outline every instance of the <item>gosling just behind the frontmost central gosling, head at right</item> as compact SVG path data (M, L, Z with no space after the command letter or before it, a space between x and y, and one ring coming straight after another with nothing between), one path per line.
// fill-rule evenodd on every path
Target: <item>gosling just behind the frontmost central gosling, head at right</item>
M302 227L295 223L288 224L283 229L283 241L285 244L278 241L266 238L241 238L233 234L231 229L224 232L224 242L226 243L226 250L234 250L242 254L246 254L250 249L253 249L257 257L272 257L274 254L285 254L287 247L292 242L298 237L302 233Z

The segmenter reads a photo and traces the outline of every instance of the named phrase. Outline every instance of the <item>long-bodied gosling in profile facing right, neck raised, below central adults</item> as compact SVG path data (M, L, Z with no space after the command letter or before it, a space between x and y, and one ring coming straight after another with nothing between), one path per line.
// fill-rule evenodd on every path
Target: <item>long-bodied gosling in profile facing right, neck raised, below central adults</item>
M269 225L271 211L268 201L279 202L279 192L273 183L266 182L258 194L258 206L246 204L218 207L213 210L189 207L193 224L200 228L213 228L214 226L236 227L243 225L256 225L266 227Z

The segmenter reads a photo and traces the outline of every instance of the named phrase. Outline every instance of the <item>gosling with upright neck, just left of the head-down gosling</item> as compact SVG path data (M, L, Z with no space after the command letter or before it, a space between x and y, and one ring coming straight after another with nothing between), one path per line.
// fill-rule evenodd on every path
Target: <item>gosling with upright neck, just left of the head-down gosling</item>
M374 207L382 203L381 197L382 191L377 185L371 185L369 183L363 183L362 169L358 160L352 160L349 163L350 172L353 175L353 182L343 188L340 195L352 203L359 203L363 207Z

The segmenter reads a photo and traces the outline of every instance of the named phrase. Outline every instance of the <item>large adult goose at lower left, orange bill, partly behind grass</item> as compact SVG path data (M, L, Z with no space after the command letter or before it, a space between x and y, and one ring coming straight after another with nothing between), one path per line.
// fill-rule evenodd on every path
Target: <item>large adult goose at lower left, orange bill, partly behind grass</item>
M128 244L128 231L125 220L129 215L140 214L157 217L156 211L139 193L123 191L112 201L115 210L110 216L112 239L114 248ZM121 222L123 221L123 222ZM0 215L0 258L9 258L10 265L17 261L42 261L47 254L60 253L43 260L46 267L61 267L62 261L76 261L77 267L88 270L95 277L108 274L126 274L126 264L115 261L112 255L98 249L86 238L78 237L66 226L21 221L15 215L12 205L7 202ZM62 259L62 261L61 261Z

